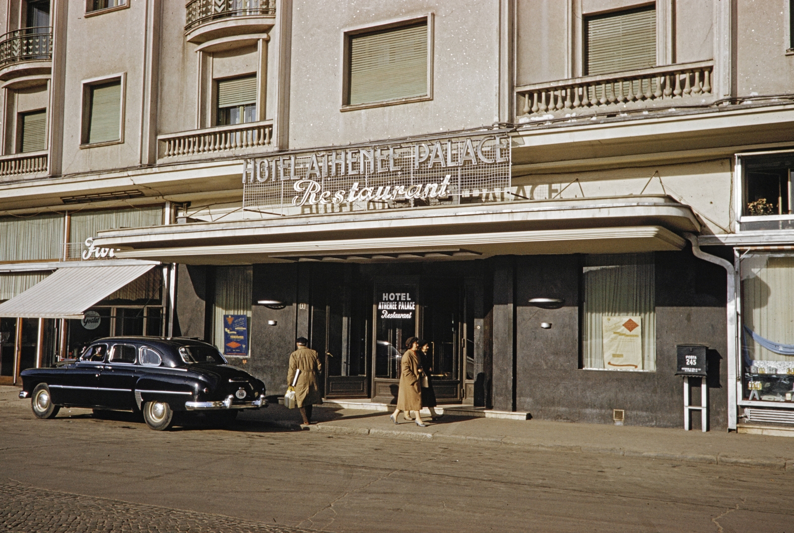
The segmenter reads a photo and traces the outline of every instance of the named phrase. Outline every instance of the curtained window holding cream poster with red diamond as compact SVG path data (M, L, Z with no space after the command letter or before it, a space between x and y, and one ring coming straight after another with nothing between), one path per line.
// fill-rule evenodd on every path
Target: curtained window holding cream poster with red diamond
M656 370L655 270L653 253L586 257L585 369Z

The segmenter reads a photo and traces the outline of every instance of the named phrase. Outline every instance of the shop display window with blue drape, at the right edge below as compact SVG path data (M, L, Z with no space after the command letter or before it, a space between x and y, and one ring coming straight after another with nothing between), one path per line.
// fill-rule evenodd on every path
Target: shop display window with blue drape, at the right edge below
M742 257L743 399L794 401L794 254Z

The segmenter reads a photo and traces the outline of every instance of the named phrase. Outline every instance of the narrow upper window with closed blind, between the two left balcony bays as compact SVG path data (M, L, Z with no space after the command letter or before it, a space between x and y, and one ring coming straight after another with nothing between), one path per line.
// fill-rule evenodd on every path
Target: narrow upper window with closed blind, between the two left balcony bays
M102 80L83 89L83 145L121 141L121 79Z

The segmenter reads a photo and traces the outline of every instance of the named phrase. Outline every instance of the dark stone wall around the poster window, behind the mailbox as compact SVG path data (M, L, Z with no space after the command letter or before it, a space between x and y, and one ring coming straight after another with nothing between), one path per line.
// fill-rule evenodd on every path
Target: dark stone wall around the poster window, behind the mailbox
M711 427L726 427L725 309L716 297L716 282L709 282L711 294L697 292L704 261L690 257L688 252L657 254L657 371L649 373L580 369L579 258L520 258L515 297L518 411L530 411L537 419L613 423L612 410L624 409L626 425L683 427L683 378L674 375L676 344L696 342L711 347ZM723 284L724 293L724 270L705 270ZM565 306L538 309L526 303L530 298L565 298ZM552 328L542 329L542 322ZM694 389L693 396L699 403L700 390ZM693 427L700 427L694 418Z

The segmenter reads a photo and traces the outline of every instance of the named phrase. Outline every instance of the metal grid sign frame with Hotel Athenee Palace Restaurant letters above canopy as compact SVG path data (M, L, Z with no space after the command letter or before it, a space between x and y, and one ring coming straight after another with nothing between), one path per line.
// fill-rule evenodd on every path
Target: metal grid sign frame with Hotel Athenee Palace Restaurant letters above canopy
M505 201L510 137L480 134L246 159L242 180L243 209L272 214Z

